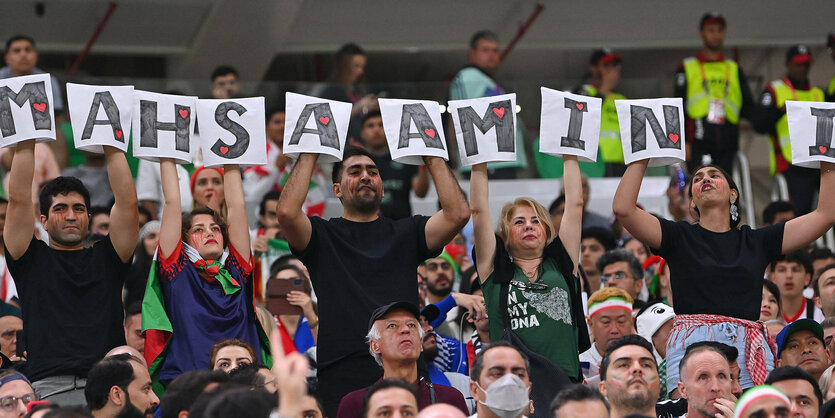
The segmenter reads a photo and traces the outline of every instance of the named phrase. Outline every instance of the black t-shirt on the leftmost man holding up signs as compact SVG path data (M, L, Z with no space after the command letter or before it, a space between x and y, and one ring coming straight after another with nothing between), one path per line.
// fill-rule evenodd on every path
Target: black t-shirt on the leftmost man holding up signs
M19 259L6 261L23 305L23 372L30 380L86 376L111 348L125 344L122 283L130 263L119 258L110 236L75 251L32 238Z

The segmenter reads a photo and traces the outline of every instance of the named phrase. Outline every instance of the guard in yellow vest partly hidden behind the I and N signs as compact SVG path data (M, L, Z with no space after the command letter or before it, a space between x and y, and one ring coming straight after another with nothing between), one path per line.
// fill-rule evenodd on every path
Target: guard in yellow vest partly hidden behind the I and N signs
M620 81L621 58L609 48L597 49L591 54L589 73L591 80L574 90L575 94L603 99L600 117L600 157L605 163L606 177L620 177L626 170L623 164L623 146L620 142L620 125L615 100L626 96L614 89Z

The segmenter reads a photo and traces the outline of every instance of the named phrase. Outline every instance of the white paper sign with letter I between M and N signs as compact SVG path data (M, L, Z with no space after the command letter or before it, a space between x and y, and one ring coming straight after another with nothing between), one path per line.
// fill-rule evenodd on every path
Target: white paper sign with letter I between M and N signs
M603 100L541 87L539 152L597 161Z

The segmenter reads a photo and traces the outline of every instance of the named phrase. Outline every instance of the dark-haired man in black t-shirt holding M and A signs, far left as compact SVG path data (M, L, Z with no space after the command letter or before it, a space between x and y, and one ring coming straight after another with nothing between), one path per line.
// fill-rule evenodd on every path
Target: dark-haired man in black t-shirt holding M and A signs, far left
M90 193L74 177L45 183L39 205L47 245L34 237L34 146L34 140L16 146L3 230L26 329L18 341L27 349L22 371L41 399L84 404L87 372L108 350L125 344L121 296L139 236L136 189L124 153L105 146L115 198L111 233L85 248Z

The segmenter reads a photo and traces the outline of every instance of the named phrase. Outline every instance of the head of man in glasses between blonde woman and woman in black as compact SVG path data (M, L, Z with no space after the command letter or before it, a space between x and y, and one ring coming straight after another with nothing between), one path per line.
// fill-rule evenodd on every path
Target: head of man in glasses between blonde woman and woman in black
M603 286L625 290L634 300L634 309L644 306L646 302L638 300L641 288L644 287L644 269L631 251L625 248L606 251L597 259L596 264Z

